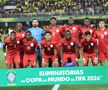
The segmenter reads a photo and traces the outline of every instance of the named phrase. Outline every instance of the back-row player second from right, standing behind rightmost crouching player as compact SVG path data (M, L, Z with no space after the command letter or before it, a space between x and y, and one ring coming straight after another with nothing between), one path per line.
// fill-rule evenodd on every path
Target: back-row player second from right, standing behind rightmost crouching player
M93 35L94 32L96 31L96 28L91 27L90 19L89 18L85 18L83 23L84 23L84 25L81 27L82 38L84 37L86 31L90 31L91 35Z

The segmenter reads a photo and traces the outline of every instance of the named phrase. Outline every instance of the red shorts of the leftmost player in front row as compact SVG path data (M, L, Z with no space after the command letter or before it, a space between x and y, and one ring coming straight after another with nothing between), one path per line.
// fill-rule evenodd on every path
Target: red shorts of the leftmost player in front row
M14 63L20 63L20 54L16 53L14 55L7 55L6 56L6 64L13 64Z

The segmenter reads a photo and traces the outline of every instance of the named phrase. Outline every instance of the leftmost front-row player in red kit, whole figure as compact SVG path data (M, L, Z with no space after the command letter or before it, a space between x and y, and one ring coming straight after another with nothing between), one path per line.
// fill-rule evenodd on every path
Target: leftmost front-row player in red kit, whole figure
M6 57L7 68L12 68L15 63L16 68L20 65L20 45L21 41L16 37L15 32L10 33L10 37L5 39L3 44L3 52Z

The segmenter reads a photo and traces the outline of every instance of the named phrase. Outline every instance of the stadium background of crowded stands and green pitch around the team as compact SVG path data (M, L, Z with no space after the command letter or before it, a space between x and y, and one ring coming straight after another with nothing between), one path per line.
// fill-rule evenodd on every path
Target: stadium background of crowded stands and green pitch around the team
M42 28L49 25L49 19L55 16L58 24L63 25L69 16L75 23L82 24L85 17L89 17L93 24L100 19L108 26L107 0L0 0L0 45L8 31L14 29L16 22L22 22L25 30L31 26L31 20L36 18ZM0 46L1 47L1 46ZM81 60L79 61L82 65ZM106 61L106 65L108 62ZM0 68L5 68L5 59L0 49ZM0 90L51 90L50 86L9 87ZM61 85L59 90L107 90L108 85Z

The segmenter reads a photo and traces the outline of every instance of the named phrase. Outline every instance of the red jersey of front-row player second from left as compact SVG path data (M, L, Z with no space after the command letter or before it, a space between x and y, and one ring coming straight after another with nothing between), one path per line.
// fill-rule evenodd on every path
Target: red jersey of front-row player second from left
M23 48L25 54L36 53L35 49L38 48L38 43L34 38L31 38L30 40L24 38L22 42L23 42Z

